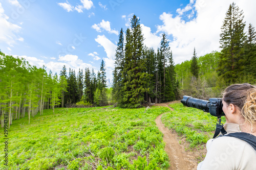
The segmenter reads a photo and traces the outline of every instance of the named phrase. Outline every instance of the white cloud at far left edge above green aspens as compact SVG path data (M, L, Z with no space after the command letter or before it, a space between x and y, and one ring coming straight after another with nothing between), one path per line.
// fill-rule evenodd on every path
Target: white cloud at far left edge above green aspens
M9 46L13 46L17 40L23 40L22 37L17 38L17 34L21 27L11 23L9 17L5 14L5 10L0 3L0 42L4 42Z

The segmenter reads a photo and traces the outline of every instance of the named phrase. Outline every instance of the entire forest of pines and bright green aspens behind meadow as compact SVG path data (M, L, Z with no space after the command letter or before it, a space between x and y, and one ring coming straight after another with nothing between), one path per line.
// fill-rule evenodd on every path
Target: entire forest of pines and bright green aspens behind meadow
M112 88L106 88L103 60L97 75L89 68L76 74L73 69L67 71L65 65L57 75L0 51L1 125L4 114L8 114L10 128L12 120L27 114L30 123L30 117L42 115L44 109L52 108L54 114L56 107L139 108L180 100L184 94L207 100L221 97L230 84L255 84L256 34L243 18L243 11L231 4L221 27L221 52L198 57L195 47L189 61L175 65L167 35L161 35L156 51L145 46L140 19L134 15L131 28L120 30Z

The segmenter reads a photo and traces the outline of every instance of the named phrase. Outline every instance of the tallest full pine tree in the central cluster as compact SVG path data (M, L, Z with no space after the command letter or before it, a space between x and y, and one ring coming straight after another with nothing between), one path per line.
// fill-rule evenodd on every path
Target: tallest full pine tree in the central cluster
M126 32L127 35L127 32ZM140 20L136 15L131 19L131 33L126 37L122 107L137 108L144 101L146 88L146 67L142 58L143 35Z

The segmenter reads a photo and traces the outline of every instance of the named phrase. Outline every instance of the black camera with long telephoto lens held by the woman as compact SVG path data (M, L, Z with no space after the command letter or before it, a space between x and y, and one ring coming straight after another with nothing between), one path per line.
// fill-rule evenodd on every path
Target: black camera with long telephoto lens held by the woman
M183 95L181 103L187 107L193 107L204 112L210 113L212 116L221 117L225 116L222 110L222 99L221 98L211 98L209 101L192 98L191 96Z

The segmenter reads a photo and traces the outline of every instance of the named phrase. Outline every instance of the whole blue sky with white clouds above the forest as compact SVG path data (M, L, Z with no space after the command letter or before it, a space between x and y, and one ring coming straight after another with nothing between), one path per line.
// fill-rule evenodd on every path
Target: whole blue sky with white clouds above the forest
M112 79L115 50L121 28L130 28L135 14L144 44L160 47L167 34L175 64L219 48L225 14L234 2L256 27L255 0L0 0L0 50L23 57L31 65L59 74L89 68L97 74L103 60Z

